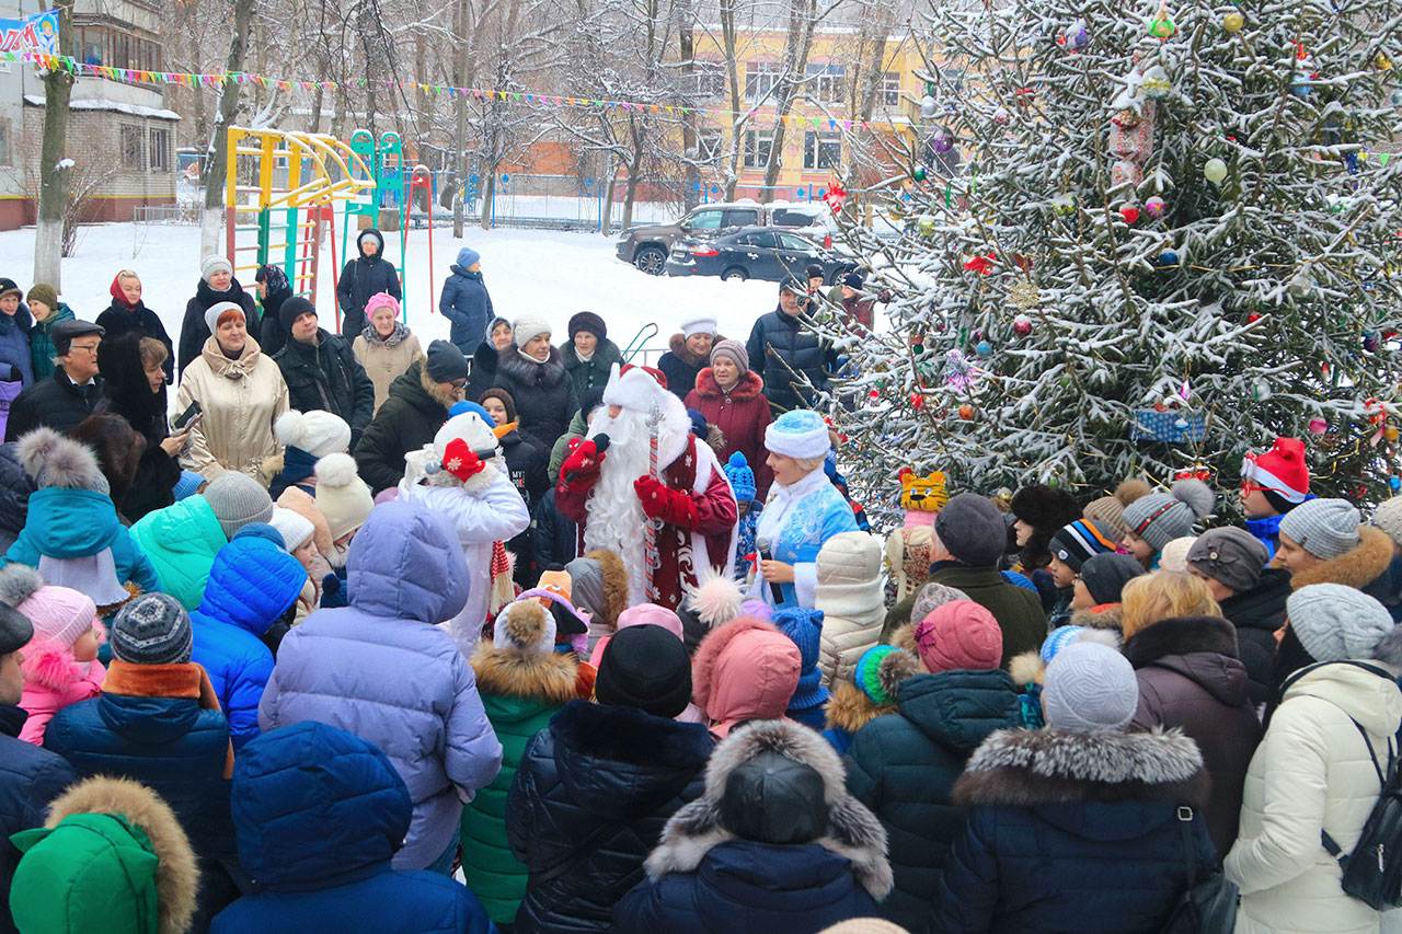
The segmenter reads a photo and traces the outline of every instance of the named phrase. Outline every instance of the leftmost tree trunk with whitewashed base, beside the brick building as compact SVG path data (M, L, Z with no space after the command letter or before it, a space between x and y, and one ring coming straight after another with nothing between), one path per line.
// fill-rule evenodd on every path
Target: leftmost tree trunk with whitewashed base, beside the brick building
M73 48L73 0L57 0L59 49ZM69 100L73 76L59 69L43 76L43 142L39 149L39 205L34 236L34 280L63 290L63 212L69 201L64 144L69 137ZM118 154L121 158L121 154Z

